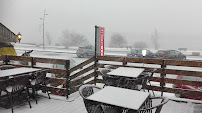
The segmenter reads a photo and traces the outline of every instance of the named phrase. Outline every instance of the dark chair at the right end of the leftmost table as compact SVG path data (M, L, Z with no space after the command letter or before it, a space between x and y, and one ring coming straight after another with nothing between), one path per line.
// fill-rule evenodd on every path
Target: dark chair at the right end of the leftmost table
M46 83L45 83L45 80L46 80L46 73L47 71L46 70L42 70L42 71L37 71L35 74L34 74L34 79L32 79L30 81L30 87L32 88L32 93L34 95L34 98L35 98L35 101L36 101L36 104L38 103L37 102L37 91L44 88L42 91L45 91L47 94L48 94L48 98L50 99L50 95L48 93L48 90L47 90L47 87L46 87Z

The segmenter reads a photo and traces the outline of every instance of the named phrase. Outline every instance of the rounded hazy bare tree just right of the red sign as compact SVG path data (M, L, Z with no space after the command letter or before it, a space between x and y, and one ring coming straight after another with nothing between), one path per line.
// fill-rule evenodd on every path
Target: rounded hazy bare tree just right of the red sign
M111 36L109 47L118 47L122 48L127 45L127 40L124 36L119 33L115 33Z

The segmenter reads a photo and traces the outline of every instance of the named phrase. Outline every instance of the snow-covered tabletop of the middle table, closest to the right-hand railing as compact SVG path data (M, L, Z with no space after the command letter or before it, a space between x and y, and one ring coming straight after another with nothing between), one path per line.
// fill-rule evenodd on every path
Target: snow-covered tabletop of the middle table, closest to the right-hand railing
M119 67L107 74L114 76L137 78L144 70L145 70L144 68Z

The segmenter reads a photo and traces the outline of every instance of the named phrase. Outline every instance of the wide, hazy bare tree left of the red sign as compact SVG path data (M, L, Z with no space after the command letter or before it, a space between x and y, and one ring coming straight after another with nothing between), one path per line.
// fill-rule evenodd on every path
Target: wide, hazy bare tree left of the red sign
M69 32L68 30L65 30L62 32L62 37L63 39L61 40L61 44L66 48L69 46L89 45L89 41L85 38L85 36L76 32Z

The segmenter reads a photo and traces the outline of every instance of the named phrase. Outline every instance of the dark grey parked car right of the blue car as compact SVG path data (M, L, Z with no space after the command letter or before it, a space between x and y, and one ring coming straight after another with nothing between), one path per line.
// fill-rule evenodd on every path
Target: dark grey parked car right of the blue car
M177 50L158 50L155 56L160 59L186 60L186 55Z

